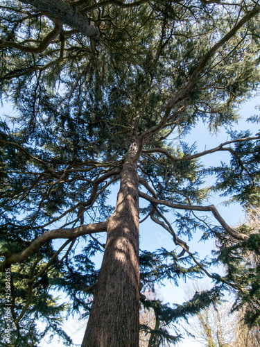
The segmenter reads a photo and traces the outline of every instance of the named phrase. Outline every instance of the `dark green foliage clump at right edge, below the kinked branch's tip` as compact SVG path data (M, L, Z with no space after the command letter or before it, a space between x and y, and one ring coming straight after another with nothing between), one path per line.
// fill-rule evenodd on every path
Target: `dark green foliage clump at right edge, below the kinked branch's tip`
M259 219L259 215L256 216ZM237 228L249 235L239 242L226 236L219 241L217 262L224 264L225 281L237 290L232 310L241 310L246 324L259 326L260 317L260 267L259 267L259 230L252 230L250 221Z

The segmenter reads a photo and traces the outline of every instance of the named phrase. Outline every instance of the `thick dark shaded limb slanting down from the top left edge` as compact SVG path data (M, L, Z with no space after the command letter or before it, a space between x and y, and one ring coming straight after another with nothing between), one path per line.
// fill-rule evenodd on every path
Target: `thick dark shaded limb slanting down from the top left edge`
M60 21L75 28L87 37L99 36L96 26L90 24L87 15L81 13L77 8L73 8L69 2L64 0L20 0L35 6L37 10L45 13L48 17Z

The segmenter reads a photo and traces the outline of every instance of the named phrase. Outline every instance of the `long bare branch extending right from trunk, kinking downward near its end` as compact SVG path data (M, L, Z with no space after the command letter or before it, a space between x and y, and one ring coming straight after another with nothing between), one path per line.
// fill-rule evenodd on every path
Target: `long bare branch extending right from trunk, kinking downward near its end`
M249 239L248 235L245 235L241 232L236 232L236 230L232 229L225 220L220 216L218 210L216 209L215 205L209 205L209 206L198 206L198 205L181 205L176 203L171 203L166 200L159 200L157 198L153 198L152 196L149 196L148 194L145 194L143 192L139 192L139 196L141 198L145 198L147 201L150 201L150 203L156 203L168 206L169 208L175 208L177 210L188 210L188 211L201 211L201 212L212 212L214 214L214 217L220 223L220 225L225 229L225 231L234 237L235 239L239 240L247 240Z

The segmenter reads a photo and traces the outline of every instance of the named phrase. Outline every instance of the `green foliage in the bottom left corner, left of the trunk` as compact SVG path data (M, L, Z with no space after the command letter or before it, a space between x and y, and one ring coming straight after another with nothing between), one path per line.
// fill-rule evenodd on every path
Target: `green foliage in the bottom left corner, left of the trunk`
M71 339L60 328L63 322L62 316L67 311L68 305L59 304L58 298L50 294L53 279L58 276L58 271L49 271L37 278L37 283L33 287L34 271L40 271L46 266L46 263L40 259L32 259L28 264L21 266L12 266L11 279L6 280L6 272L1 276L1 337L7 328L5 317L6 310L10 308L11 318L13 320L10 329L10 344L3 338L3 346L40 346L40 341L46 335L57 334L64 341L66 346L71 344ZM10 283L10 301L11 305L6 306L7 293L6 283ZM45 329L41 331L37 322L44 324Z

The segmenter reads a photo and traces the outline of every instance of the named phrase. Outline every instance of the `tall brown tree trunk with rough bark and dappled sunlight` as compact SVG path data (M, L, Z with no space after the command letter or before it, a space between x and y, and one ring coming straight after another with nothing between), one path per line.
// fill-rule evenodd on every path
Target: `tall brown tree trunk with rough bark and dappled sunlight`
M130 146L121 171L116 209L82 347L139 346L138 146Z

